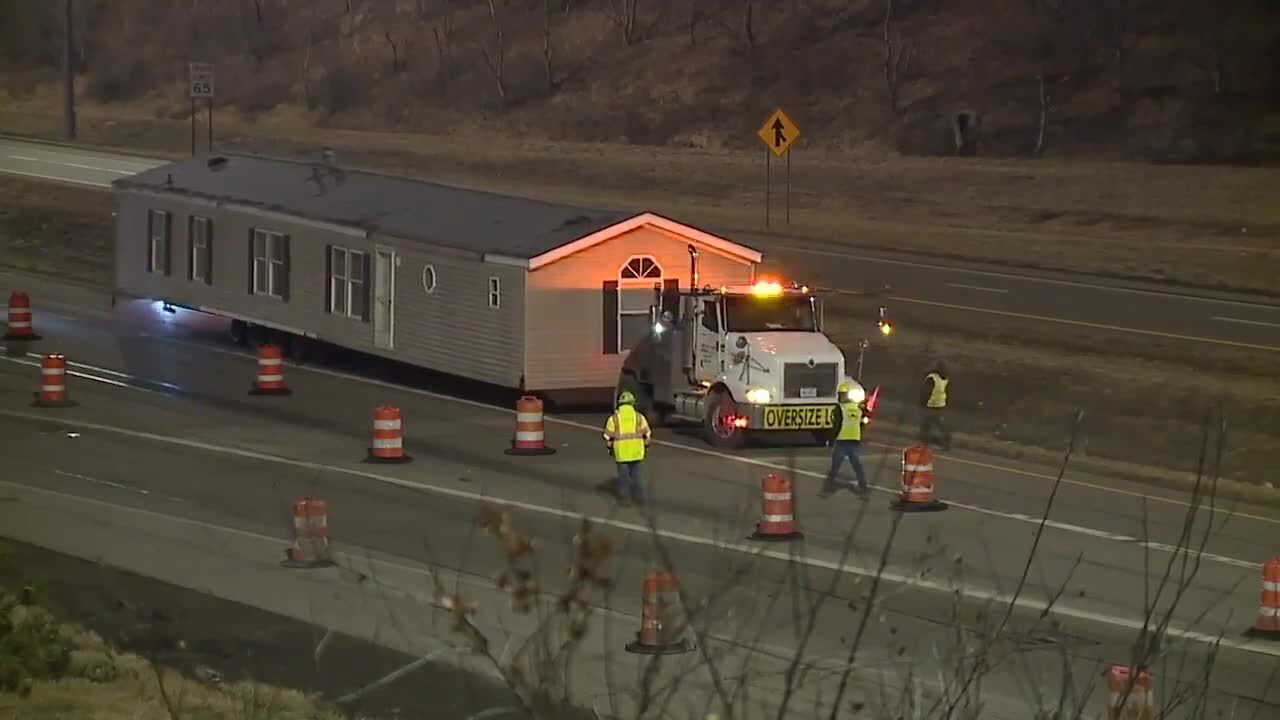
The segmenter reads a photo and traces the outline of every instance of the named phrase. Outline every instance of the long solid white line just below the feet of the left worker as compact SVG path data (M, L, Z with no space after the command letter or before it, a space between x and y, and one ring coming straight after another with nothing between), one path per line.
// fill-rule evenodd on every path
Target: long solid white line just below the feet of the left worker
M8 416L8 418L17 418L17 419L22 419L22 420L45 421L45 420L49 419L47 415L36 415L36 414L32 414L32 413L18 413L18 411L13 411L13 410L0 410L0 415ZM289 465L289 466L301 468L301 469L305 469L305 470L308 470L308 471L312 471L312 473L326 473L328 471L328 473L337 473L337 474L343 474L343 475L351 475L351 477L355 477L355 478L361 478L361 479L366 479L366 480L374 480L374 482L379 482L379 483L384 483L384 484L389 484L389 486L396 486L396 487L399 487L399 488L411 489L411 491L416 491L416 492L443 495L443 496L453 497L453 498L457 498L457 500L465 500L467 502L480 502L480 503L492 502L494 505L503 505L503 506L513 507L513 509L517 509L517 510L525 510L527 512L538 512L538 514L541 514L541 515L552 515L554 518L561 518L561 519L567 519L567 520L580 520L584 516L584 514L581 514L581 512L571 512L568 510L563 510L563 509L559 509L559 507L549 507L549 506L536 505L536 503L532 503L532 502L525 502L525 501L520 501L520 500L499 498L499 497L494 497L494 496L486 496L486 495L475 493L475 492L467 492L467 491L462 491L462 489L445 488L445 487L439 487L439 486L429 486L429 484L424 484L424 483L416 483L416 482L412 482L412 480L404 480L404 479L401 479L401 478L393 478L393 477L389 477L389 475L380 475L378 473L370 473L367 470L357 470L355 468L342 468L342 466L338 466L338 465L325 465L325 464L321 464L321 462L308 462L306 460L293 460L293 459L289 459L289 457L280 457L278 455L268 455L265 452L257 452L257 451L252 451L252 450L242 450L242 448L238 448L238 447L228 447L228 446L216 445L216 443L211 443L211 442L202 442L202 441L186 439L186 438L178 438L178 437L170 437L170 436L161 436L161 434L156 434L156 433L147 433L147 432L142 432L142 430L133 430L133 429L120 428L120 427L115 427L115 425L104 425L104 424L100 424L100 423L90 423L90 421L86 421L86 420L59 419L58 421L61 423L61 424L64 424L64 425L69 425L69 427L87 428L87 429L93 429L93 430L99 430L99 432L104 432L104 433L116 433L116 434L122 434L122 436L125 436L125 437L133 437L133 438L137 438L137 439L146 439L146 441L151 441L151 442L165 443L165 445L175 445L175 446L188 447L188 448L193 448L193 450L202 450L205 452L212 452L212 454L219 454L219 455L230 455L233 457L243 457L243 459L248 459L248 460L260 460L260 461L264 461L264 462L275 462L275 464L280 464L280 465ZM854 575L861 575L861 577L874 577L876 575L876 568L874 566L859 568L859 566L855 566L855 565L847 565L847 564L832 562L829 560L822 560L822 559L817 559L817 557L809 557L806 555L797 555L795 552L780 552L780 551L768 550L768 548L760 547L760 546L754 546L753 547L753 546L748 546L748 544L742 544L742 543L724 542L724 541L718 541L718 539L714 539L714 538L691 536L691 534L681 533L681 532L677 532L677 530L664 530L664 529L660 529L660 528L657 528L657 527L649 528L649 527L640 525L640 524L636 524L636 523L627 523L625 520L616 520L613 518L588 516L588 519L590 519L595 524L604 525L604 527L611 527L611 528L614 528L614 529L618 529L618 530L625 530L625 532L628 532L628 533L639 533L639 534L653 533L657 537L660 537L663 539L672 541L672 542L681 542L681 543L686 543L686 544L698 544L698 546L703 546L703 547L710 547L710 548L716 548L716 550L722 550L722 551L728 551L728 552L736 552L736 553L740 553L740 555L768 557L771 560L776 560L776 561L781 561L781 562L800 562L800 564L808 565L810 568L817 568L817 569L828 570L828 571L833 571L833 573L845 573L845 574L854 574ZM881 577L884 580L888 580L888 582L896 583L896 584L913 585L913 587L916 587L916 588L920 588L920 589L928 589L928 591L934 591L934 592L943 592L943 593L947 593L947 594L961 593L961 594L965 594L965 596L975 598L975 600L998 602L1001 605L1011 605L1012 603L1014 606L1020 607L1023 610L1030 610L1030 611L1036 611L1036 612L1044 612L1044 611L1047 611L1047 610L1051 609L1051 606L1048 603L1041 602L1038 600L1032 600L1032 598L1028 598L1025 596L1019 597L1015 601L1015 598L1012 596L1010 596L1010 594L1005 594L1005 593L1001 593L1001 592L997 592L997 591L992 591L992 589L987 589L987 588L963 587L963 585L954 585L954 584L950 584L950 583L941 583L941 582L937 582L937 580L929 580L929 579L924 578L925 574L927 574L927 570L920 570L920 571L914 573L914 574L902 574L902 573L897 573L897 571L892 571L892 570L886 570L884 573L881 573ZM1119 618L1119 616L1115 616L1115 615L1106 615L1106 614L1094 612L1094 611L1091 611L1091 610L1075 609L1075 607L1071 607L1069 605L1062 605L1062 603L1053 605L1052 606L1052 612L1055 612L1057 615L1061 615L1064 618L1074 618L1074 619L1078 619L1078 620L1087 620L1087 621L1092 621L1092 623L1100 623L1100 624L1103 624L1103 625L1115 625L1115 626L1125 628L1125 629L1130 629L1130 630L1140 630L1147 624L1144 620L1140 620L1140 619L1134 620L1134 619L1128 619L1128 618ZM1234 650L1242 650L1242 651L1245 651L1245 652L1257 652L1257 653L1261 653L1261 655L1271 655L1271 656L1275 656L1275 657L1280 657L1280 646L1271 646L1271 644L1265 644L1265 643L1258 643L1258 642L1240 642L1240 641L1235 641L1235 639L1230 639L1230 638L1224 638L1224 637L1217 637L1217 635L1210 635L1210 634L1206 634L1206 633L1198 633L1196 630L1187 630L1187 629L1180 629L1180 628L1174 628L1174 626L1169 626L1169 629L1166 630L1166 633L1170 634L1170 635L1172 635L1172 637L1178 637L1178 638L1183 638L1183 639L1188 639L1188 641L1198 642L1198 643L1203 643L1203 644L1221 644L1221 646L1226 646L1226 647L1230 647L1230 648L1234 648Z

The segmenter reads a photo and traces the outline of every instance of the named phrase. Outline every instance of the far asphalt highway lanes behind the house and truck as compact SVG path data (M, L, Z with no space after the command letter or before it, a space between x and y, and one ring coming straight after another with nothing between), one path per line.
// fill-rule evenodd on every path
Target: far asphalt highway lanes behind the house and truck
M110 181L163 164L64 145L0 140L0 173L109 187ZM943 264L852 252L831 246L756 241L767 264L788 277L836 291L892 288L893 302L938 311L1019 318L1071 328L1185 340L1280 352L1280 302L1162 291L1051 273L1019 274L980 265Z

